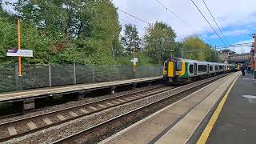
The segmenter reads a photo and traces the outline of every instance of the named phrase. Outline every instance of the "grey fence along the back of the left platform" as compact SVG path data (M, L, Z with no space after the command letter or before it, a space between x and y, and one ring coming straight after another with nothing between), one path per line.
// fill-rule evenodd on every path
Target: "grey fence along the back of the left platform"
M30 65L22 66L22 90L51 86L111 82L162 75L162 66ZM0 93L18 90L18 65L0 66Z

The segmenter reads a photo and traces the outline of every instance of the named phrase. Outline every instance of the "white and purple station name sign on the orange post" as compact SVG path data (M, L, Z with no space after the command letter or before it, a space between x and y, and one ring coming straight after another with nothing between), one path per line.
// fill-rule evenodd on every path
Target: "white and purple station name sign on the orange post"
M33 50L7 50L7 57L33 57Z

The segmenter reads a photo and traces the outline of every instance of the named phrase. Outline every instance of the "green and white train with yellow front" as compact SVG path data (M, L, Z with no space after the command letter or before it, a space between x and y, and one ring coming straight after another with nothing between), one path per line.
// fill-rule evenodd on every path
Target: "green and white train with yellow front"
M232 72L235 65L200 62L190 59L169 58L164 63L163 77L168 82L184 83L198 78L208 78L214 75Z

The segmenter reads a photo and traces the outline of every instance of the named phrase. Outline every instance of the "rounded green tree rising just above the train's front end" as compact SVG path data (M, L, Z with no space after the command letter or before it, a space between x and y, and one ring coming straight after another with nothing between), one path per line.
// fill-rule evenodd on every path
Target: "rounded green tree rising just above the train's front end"
M170 26L163 22L156 22L154 26L147 28L144 36L146 53L156 63L162 63L170 57L171 50L174 50L174 54L178 54L174 38L176 38L176 34Z

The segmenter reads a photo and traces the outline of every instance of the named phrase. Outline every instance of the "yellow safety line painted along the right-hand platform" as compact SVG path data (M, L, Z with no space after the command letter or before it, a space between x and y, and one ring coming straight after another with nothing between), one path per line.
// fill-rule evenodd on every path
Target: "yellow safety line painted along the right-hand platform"
M210 118L210 121L208 122L208 124L206 125L205 130L203 130L200 138L198 139L197 144L204 144L206 143L207 139L209 138L210 135L210 131L213 129L215 122L218 119L219 114L222 111L222 108L226 102L226 99L228 98L228 96L230 95L230 91L232 90L234 83L237 82L238 78L239 78L240 74L238 75L237 78L235 78L234 82L232 83L232 85L230 86L229 90L227 90L225 96L222 98L222 101L218 104L217 109L214 111L213 116Z

